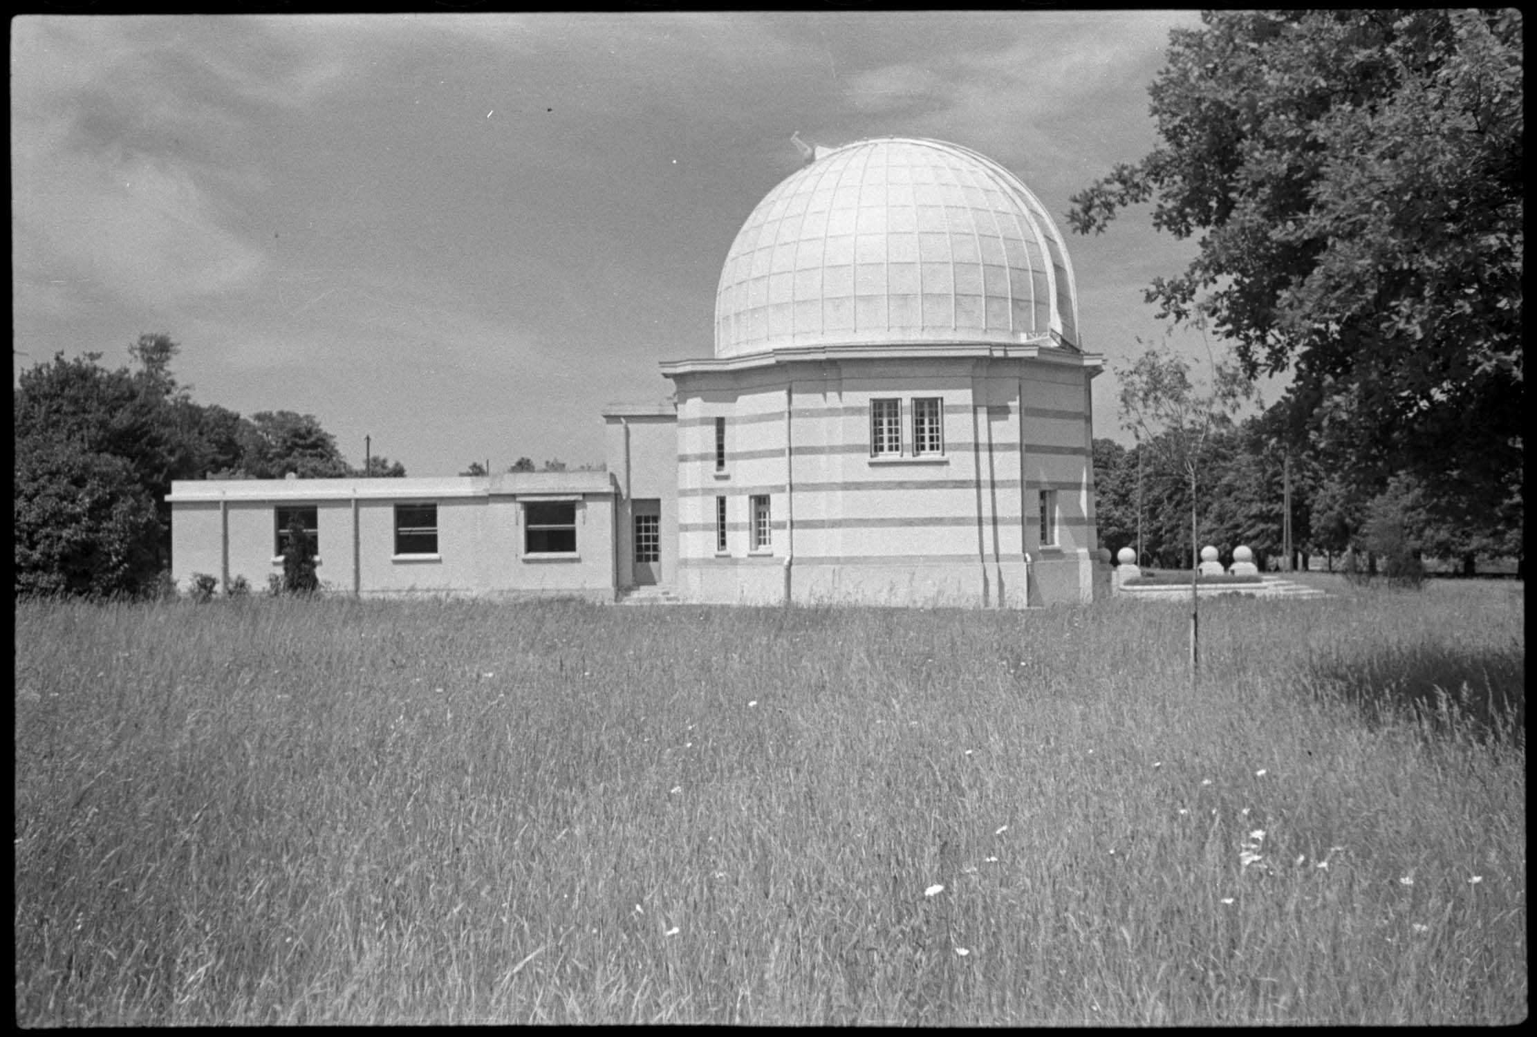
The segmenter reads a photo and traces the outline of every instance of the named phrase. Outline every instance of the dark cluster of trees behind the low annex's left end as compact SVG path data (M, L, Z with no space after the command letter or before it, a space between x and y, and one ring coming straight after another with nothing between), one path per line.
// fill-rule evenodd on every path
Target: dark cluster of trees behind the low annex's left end
M101 353L25 370L15 407L15 593L138 596L171 564L172 479L358 476L314 415L243 416L177 383L169 335L140 335L132 364ZM370 476L404 476L370 458Z

